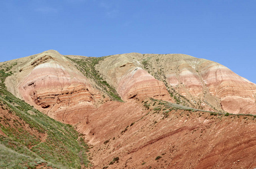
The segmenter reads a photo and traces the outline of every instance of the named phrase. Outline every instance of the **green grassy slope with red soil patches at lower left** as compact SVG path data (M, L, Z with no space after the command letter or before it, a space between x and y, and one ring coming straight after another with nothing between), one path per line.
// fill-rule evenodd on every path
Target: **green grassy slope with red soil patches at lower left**
M71 125L47 117L6 90L3 82L10 69L0 70L0 130L5 133L0 135L0 168L88 166L88 146Z

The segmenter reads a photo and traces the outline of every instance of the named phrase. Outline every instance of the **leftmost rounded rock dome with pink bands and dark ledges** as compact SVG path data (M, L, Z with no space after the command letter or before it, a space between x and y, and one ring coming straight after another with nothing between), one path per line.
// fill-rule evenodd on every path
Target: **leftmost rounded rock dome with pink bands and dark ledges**
M80 109L103 100L88 79L64 56L55 52L43 52L28 67L32 71L19 84L21 96L58 121L77 123L79 116L67 119L67 114L72 111L79 113Z

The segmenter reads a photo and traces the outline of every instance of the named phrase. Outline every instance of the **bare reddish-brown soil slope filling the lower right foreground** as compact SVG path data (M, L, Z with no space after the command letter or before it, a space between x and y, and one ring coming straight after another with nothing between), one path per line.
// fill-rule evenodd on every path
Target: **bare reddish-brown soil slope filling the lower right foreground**
M256 167L256 118L152 108L114 103L89 115L94 168Z

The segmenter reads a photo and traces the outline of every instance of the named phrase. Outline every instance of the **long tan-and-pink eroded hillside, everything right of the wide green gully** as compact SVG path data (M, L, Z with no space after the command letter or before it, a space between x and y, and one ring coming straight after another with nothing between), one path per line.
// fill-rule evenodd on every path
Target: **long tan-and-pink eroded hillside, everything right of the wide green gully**
M149 92L156 92L150 96L162 95L160 99L198 109L256 114L256 85L214 61L183 54L132 53L107 57L97 69L124 99L137 93L145 92L148 96ZM158 83L154 86L154 82L150 82L154 90L147 85L150 78ZM167 95L171 99L167 99Z

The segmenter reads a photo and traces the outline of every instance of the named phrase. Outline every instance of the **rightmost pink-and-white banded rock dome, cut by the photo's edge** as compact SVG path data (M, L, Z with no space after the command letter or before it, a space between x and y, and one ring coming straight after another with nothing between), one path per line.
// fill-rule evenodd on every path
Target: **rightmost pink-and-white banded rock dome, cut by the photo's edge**
M235 114L256 114L256 85L223 65L206 61L202 78L211 95L220 98L222 109Z

